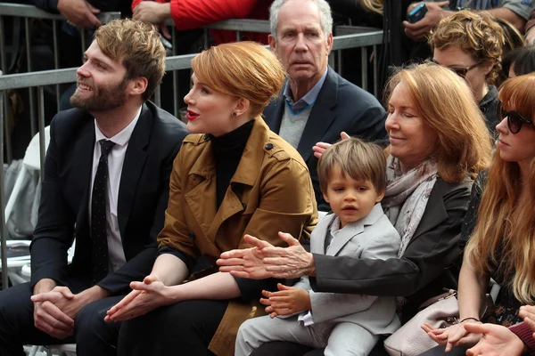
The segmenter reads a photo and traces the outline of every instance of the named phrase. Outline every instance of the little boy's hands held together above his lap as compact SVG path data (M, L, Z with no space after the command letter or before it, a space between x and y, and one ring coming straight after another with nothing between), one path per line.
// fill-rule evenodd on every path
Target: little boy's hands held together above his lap
M278 292L263 290L262 294L268 299L261 298L260 303L268 305L266 312L271 318L277 315L290 315L296 312L304 312L312 309L310 295L304 289L288 287L281 283L276 285Z

